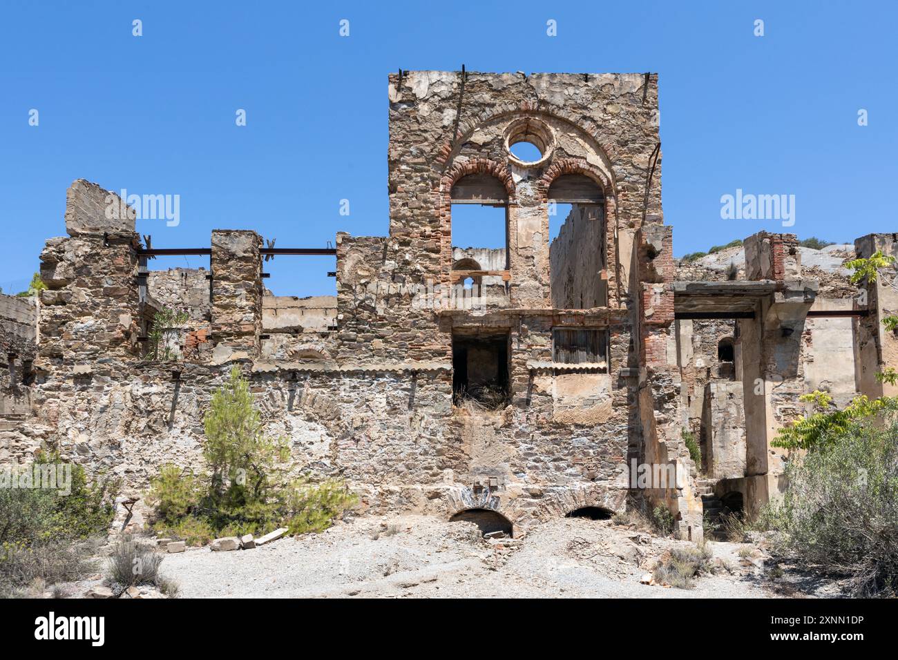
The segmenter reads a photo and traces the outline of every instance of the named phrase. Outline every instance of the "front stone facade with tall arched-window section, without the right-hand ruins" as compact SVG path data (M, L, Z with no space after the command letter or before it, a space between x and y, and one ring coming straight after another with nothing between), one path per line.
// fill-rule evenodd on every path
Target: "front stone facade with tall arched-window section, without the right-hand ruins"
M289 439L295 470L345 478L365 510L448 517L486 507L526 527L644 497L670 506L677 533L699 540L691 481L638 493L627 479L630 460L682 465L691 478L696 469L682 443L656 75L403 72L389 84L389 234L337 235L335 303L266 300L259 234L217 229L211 286L202 271L150 275L142 301L133 213L106 216L120 200L76 181L70 237L50 239L41 257L46 341L31 414L0 427L2 459L57 444L141 497L163 462L199 464L203 415L237 365L269 433ZM538 162L510 154L524 138L540 143ZM474 173L506 190L510 278L506 302L469 310L453 306L447 287L451 190ZM604 233L594 235L602 253L581 257L607 277L607 304L584 295L572 305L588 310L551 296L548 191L567 174L602 189L608 218L589 221ZM185 297L185 350L174 362L146 360L141 323L154 305ZM606 364L555 363L556 328L607 332ZM507 337L504 409L453 405L453 337L478 333ZM204 349L187 350L190 341Z

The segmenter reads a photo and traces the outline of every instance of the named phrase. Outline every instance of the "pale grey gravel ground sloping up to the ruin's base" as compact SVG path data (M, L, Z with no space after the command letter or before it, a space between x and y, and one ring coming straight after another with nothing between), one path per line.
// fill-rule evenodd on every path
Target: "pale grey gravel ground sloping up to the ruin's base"
M738 543L710 543L720 569L692 589L640 584L677 545L691 543L609 521L561 519L496 542L470 523L364 517L254 550L167 555L162 572L182 598L776 597L763 585L761 558L740 558Z

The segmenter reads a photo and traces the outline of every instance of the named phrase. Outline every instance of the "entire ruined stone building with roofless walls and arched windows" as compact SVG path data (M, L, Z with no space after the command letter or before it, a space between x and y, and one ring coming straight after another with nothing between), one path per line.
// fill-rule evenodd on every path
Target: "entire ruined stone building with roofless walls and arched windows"
M663 505L698 540L703 508L756 509L782 488L770 442L799 394L889 389L879 321L898 298L803 264L786 233L747 238L734 267L678 264L657 91L641 74L390 75L389 231L337 233L335 297L270 295L264 258L302 257L247 228L192 252L208 268L153 270L186 246L148 247L132 209L76 180L67 236L40 255L48 289L0 298L0 463L54 444L141 497L163 462L198 464L204 411L239 365L297 470L347 480L363 512L524 531ZM505 248L453 242L471 204L504 212ZM894 234L845 249L898 256ZM155 329L165 359L147 359L163 308L186 320ZM642 464L682 479L642 488Z

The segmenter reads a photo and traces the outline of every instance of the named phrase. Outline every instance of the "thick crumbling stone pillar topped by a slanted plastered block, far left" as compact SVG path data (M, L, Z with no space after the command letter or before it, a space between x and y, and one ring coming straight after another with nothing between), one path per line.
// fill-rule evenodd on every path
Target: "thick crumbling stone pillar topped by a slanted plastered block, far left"
M137 344L136 212L118 195L79 179L66 192L67 238L40 254L42 341L36 365L49 358L87 364L131 356Z

